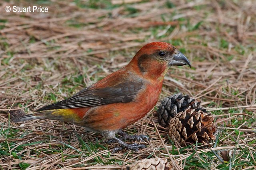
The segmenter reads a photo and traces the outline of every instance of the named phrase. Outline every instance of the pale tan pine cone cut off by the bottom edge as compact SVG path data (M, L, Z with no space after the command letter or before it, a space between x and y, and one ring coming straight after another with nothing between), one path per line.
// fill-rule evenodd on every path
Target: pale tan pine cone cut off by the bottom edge
M166 158L142 159L126 166L126 170L171 170L172 165Z

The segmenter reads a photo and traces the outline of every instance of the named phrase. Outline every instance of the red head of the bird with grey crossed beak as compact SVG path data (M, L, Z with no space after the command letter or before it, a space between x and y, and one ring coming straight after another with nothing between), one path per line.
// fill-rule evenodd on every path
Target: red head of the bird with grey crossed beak
M191 67L188 59L176 47L169 43L153 42L142 47L128 65L137 67L137 72L141 74L163 77L171 66L186 64Z

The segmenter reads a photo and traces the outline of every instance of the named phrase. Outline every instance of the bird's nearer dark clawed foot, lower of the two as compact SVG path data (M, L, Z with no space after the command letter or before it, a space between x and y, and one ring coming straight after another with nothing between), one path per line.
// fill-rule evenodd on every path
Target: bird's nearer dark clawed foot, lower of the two
M146 148L145 145L139 145L138 143L132 143L132 144L125 143L116 137L114 137L112 140L117 141L121 145L120 147L116 147L112 149L112 153L116 153L122 149L130 149L138 152L138 149Z

